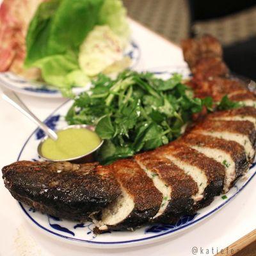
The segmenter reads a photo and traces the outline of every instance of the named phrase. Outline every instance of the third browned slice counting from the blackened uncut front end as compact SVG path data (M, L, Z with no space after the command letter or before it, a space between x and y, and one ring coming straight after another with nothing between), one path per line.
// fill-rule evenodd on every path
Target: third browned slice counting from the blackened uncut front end
M220 195L225 179L225 167L222 164L188 147L182 139L157 148L157 152L195 180L198 193L192 198L196 202L196 209L211 204L214 196Z

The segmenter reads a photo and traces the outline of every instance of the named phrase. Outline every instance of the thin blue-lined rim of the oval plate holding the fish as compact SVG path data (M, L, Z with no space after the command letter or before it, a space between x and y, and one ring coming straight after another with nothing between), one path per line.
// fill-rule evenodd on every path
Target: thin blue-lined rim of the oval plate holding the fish
M166 71L164 72L161 72L161 71L157 71L156 74L158 73L161 73L161 74L165 74ZM169 72L170 74L170 72ZM59 106L57 109L55 109L51 115L49 115L44 122L46 122L47 120L49 120L49 118L51 118L52 116L54 116L54 114L56 112L58 112L62 107L65 106L65 104L68 104L68 102L70 102L70 100L67 100L66 102L64 102L63 104L61 104L61 106ZM71 102L70 102L71 103ZM35 131L33 131L33 133L29 136L29 138L26 140L26 142L24 143L24 145L22 146L21 150L20 150L20 153L19 153L19 156L17 158L17 161L19 161L20 159L20 156L22 155L22 152L24 150L24 148L26 147L26 145L28 144L29 140L31 139L31 137L33 136L33 134L36 133L36 131L38 131L38 128L35 129ZM87 240L87 239L79 239L79 238L76 238L76 237L68 237L68 236L65 236L63 234L59 234L57 232L54 232L52 230L50 230L49 228L47 227L44 227L42 226L40 223L38 223L38 221L36 221L33 216L31 216L31 214L29 214L28 210L24 207L24 205L22 203L19 202L19 205L22 209L22 211L26 214L26 216L29 218L29 220L33 221L33 223L36 224L36 226L40 227L42 230L45 230L46 232L49 232L50 234L53 234L54 236L57 236L57 237L61 237L63 239L68 239L68 241L76 241L76 242L79 242L79 243L84 243L84 244L101 244L101 245L108 245L108 244L120 244L120 245L124 245L125 247L125 244L131 244L131 243L134 243L134 245L136 244L143 244L143 242L145 243L145 241L150 241L150 240L155 240L155 241L158 241L159 239L156 239L157 237L163 237L163 236L166 236L168 234L172 234L173 232L177 232L178 231L182 231L182 230L185 230L186 228L188 227L191 227L192 225L195 225L196 223L198 223L199 221L202 221L202 220L205 220L205 218L211 216L214 212L217 212L218 210L220 210L224 205L226 205L228 202L230 202L230 200L232 200L237 194L239 194L243 189L244 187L248 184L248 182L250 182L250 180L253 179L253 177L255 176L256 174L256 168L255 168L255 165L256 165L256 162L254 162L252 164L252 166L250 167L250 170L251 170L251 176L248 180L244 181L243 185L241 185L241 188L237 188L237 191L235 193L233 193L231 196L229 196L224 202L221 202L221 204L217 205L216 207L214 207L211 211L205 213L205 214L198 214L197 216L199 216L198 218L195 218L196 216L193 216L191 218L191 220L189 220L187 223L185 223L184 225L180 225L180 226L176 226L177 228L171 228L171 230L162 230L161 231L161 234L154 234L153 236L149 236L149 237L142 237L140 239L129 239L129 240L124 240L124 241L90 241L90 240ZM252 170L254 168L254 170ZM202 209L204 210L204 209ZM202 216L200 216L202 215ZM149 228L150 229L150 228ZM168 229L168 228L167 228ZM159 231L152 231L153 233L159 233ZM153 242L152 241L152 242Z

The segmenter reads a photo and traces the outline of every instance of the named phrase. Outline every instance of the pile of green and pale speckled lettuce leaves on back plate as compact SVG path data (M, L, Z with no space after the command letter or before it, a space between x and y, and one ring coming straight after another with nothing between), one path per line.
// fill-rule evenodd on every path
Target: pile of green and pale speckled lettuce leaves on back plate
M89 52L90 45L81 48L81 44L86 42L86 37L89 33L93 33L92 31L95 31L93 35L98 36L89 40L91 45L95 45L93 40L102 41L102 33L97 33L97 24L107 25L103 26L105 31L108 30L107 34L110 38L118 42L115 46L123 50L124 42L127 42L129 37L129 27L122 1L43 2L29 25L26 36L25 67L40 68L44 81L60 88L63 92L72 86L84 86L89 81L88 76L95 76L115 64L115 61L122 59L121 52L118 52L119 55L116 54L114 47L111 48L112 52L106 51L105 54L100 54L94 51L94 55ZM83 50L82 53L80 49ZM112 57L113 60L109 61ZM88 65L84 65L88 61L92 61L94 68L90 69ZM122 65L124 66L123 63Z

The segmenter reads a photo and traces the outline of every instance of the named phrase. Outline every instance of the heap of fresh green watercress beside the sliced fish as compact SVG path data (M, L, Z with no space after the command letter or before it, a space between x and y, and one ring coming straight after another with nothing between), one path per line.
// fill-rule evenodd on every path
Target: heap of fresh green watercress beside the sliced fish
M104 140L96 158L106 164L175 140L203 106L212 108L211 97L193 97L179 74L164 81L126 70L116 79L100 74L90 92L76 97L66 120L96 126ZM221 106L230 107L227 98Z

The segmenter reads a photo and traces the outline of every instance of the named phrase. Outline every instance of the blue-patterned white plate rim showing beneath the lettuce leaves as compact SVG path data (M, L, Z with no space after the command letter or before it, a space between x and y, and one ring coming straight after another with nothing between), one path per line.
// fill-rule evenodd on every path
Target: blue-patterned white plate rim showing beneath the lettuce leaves
M134 40L132 40L131 43L128 45L127 49L125 49L124 56L129 56L131 58L131 66L129 68L134 68L138 64L141 56L141 51L139 45ZM14 92L33 95L36 97L63 97L58 88L56 89L52 86L36 81L28 81L27 79L20 77L19 75L13 74L12 72L0 73L0 84L9 88L10 90L13 90ZM78 94L86 90L86 88L74 87L72 91L75 94Z

